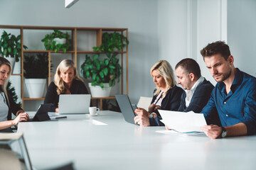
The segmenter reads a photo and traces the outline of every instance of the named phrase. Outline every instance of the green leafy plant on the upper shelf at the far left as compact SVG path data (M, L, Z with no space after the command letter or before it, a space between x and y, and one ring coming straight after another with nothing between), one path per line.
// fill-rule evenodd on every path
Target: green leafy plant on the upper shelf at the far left
M23 48L24 50L28 49L26 45L23 45ZM21 57L21 35L16 37L11 33L6 33L4 30L0 39L0 54L3 57L14 57L18 62L18 58Z

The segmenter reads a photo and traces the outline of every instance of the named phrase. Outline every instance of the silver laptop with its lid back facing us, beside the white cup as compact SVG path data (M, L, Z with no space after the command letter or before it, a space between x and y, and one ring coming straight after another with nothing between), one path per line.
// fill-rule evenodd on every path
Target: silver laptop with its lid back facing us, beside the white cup
M90 94L60 94L59 114L89 113Z

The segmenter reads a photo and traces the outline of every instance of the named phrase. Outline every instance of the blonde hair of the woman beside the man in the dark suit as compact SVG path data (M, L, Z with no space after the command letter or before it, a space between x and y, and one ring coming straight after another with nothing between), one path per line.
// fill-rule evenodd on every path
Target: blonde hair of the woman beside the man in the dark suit
M166 83L166 91L164 91L163 98L166 96L166 93L169 89L173 88L176 84L176 81L174 79L174 70L172 69L169 62L166 60L160 60L159 62L156 62L153 67L150 69L151 77L153 77L152 72L156 70L162 77L164 77L164 81ZM159 94L161 91L160 87L156 86L156 91L154 92L154 95Z

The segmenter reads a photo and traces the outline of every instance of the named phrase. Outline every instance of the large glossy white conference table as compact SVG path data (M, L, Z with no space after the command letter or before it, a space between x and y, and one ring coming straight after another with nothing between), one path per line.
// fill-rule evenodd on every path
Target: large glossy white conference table
M210 140L156 130L164 127L132 125L112 111L18 124L36 169L68 162L75 169L256 169L256 136Z

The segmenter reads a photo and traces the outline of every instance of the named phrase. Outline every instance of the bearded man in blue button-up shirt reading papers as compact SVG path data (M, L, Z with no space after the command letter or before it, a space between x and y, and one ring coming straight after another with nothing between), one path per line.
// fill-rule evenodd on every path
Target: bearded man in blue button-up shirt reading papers
M256 134L256 79L234 67L225 42L201 50L206 67L218 82L203 108L208 125L201 129L212 139Z

